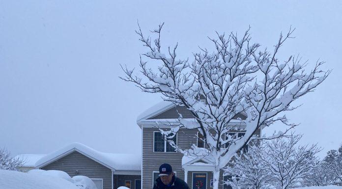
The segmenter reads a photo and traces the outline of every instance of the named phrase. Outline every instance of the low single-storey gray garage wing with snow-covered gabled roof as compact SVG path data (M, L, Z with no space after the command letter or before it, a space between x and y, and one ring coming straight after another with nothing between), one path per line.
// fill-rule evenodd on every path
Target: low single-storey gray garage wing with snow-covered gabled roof
M141 162L139 154L102 153L75 142L41 157L34 167L61 170L71 177L87 176L98 189L116 189L120 186L141 189Z

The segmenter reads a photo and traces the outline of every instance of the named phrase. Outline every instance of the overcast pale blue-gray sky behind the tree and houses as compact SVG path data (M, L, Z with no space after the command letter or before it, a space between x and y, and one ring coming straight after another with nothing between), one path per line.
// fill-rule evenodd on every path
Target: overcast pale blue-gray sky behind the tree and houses
M296 27L281 56L326 61L332 74L302 107L288 114L301 123L302 144L324 150L342 142L342 1L251 0L0 0L0 147L46 154L81 142L102 152L139 153L137 116L159 102L122 76L144 48L134 30L165 22L162 45L178 45L180 58L206 47L214 32L242 33L272 48L281 31ZM271 130L277 130L274 127Z

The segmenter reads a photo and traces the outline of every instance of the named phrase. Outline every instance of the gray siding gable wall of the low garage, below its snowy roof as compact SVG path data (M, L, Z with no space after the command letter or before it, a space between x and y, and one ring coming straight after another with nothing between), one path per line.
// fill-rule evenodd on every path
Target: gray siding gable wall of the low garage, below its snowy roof
M89 178L103 179L103 189L112 189L112 170L76 151L40 169L61 170L71 177L84 175ZM79 174L76 174L76 170L79 170Z

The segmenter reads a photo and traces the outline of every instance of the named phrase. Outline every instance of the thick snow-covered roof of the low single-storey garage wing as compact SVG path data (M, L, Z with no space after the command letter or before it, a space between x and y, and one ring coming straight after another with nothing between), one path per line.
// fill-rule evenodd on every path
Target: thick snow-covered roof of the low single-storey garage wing
M103 153L78 142L71 143L55 152L47 154L35 163L35 167L43 167L74 151L77 151L112 170L141 170L142 157L140 154Z

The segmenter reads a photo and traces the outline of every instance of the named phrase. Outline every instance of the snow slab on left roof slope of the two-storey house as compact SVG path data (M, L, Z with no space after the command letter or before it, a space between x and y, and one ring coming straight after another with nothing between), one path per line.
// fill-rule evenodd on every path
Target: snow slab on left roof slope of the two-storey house
M162 113L170 108L173 108L174 104L172 104L170 101L162 101L157 103L156 105L152 106L151 108L146 109L143 111L138 117L137 122L147 119L149 117L153 117L155 115L158 115L159 113Z

